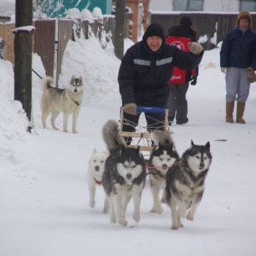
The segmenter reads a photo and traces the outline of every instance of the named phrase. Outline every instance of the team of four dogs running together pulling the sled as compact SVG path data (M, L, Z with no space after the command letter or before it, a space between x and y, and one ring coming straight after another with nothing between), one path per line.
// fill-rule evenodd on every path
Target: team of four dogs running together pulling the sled
M191 146L181 157L169 132L153 131L154 148L149 160L139 148L127 148L119 136L119 122L109 119L102 127L107 152L94 150L90 157L88 183L90 207L95 207L96 184L102 184L106 194L102 212L110 222L127 225L126 207L133 201L132 218L140 220L143 188L148 176L153 207L150 212L163 212L162 203L171 208L172 230L183 227L181 218L193 220L204 193L205 179L212 162L210 143ZM164 193L160 198L160 190Z

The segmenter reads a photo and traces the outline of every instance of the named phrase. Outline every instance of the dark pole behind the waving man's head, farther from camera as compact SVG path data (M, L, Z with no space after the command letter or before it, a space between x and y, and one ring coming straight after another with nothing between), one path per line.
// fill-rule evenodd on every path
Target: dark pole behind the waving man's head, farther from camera
M125 0L116 1L114 53L121 60L124 55L125 39Z

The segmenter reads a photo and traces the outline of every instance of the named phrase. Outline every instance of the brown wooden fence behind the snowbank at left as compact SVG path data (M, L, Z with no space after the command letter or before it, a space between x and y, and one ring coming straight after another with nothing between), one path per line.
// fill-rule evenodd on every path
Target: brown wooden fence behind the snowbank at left
M84 32L84 37L88 38L89 26L96 36L102 30L102 26L107 33L111 32L114 35L114 24L113 16L104 17L103 22L95 20L92 24L89 24L88 20L80 20L79 23L73 20L35 20L33 22L33 26L36 27L33 35L33 52L41 57L46 75L55 77L57 84L67 42L74 40L74 32L77 32L76 35L79 36L79 32L74 31L73 26L81 26L80 29ZM15 65L14 28L14 23L0 24L0 37L6 44L4 59L11 61L13 65Z

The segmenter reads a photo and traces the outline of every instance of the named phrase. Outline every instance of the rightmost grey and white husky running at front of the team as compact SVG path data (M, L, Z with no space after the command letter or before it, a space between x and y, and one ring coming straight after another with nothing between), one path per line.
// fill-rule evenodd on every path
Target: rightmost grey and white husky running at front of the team
M166 175L166 203L172 211L172 230L183 227L181 218L193 220L205 189L205 179L212 163L210 143L188 148Z

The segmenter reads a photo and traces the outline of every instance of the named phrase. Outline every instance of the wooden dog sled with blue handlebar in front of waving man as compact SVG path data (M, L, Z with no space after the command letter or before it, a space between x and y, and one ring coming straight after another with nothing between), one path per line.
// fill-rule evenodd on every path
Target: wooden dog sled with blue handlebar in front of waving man
M144 115L144 119L140 117L138 125L132 125L131 122L127 122L124 119L124 108L121 108L120 111L120 136L127 140L131 140L128 148L137 148L140 147L140 151L149 151L151 152L154 148L154 143L151 141L150 133L147 131L147 125L143 125L143 120L146 122L145 116L147 113L165 113L164 122L160 122L159 120L155 120L156 123L161 123L160 126L163 128L165 132L168 132L168 109L166 108L148 108L148 107L137 107L137 113L141 113ZM123 131L124 125L132 125L135 131Z

